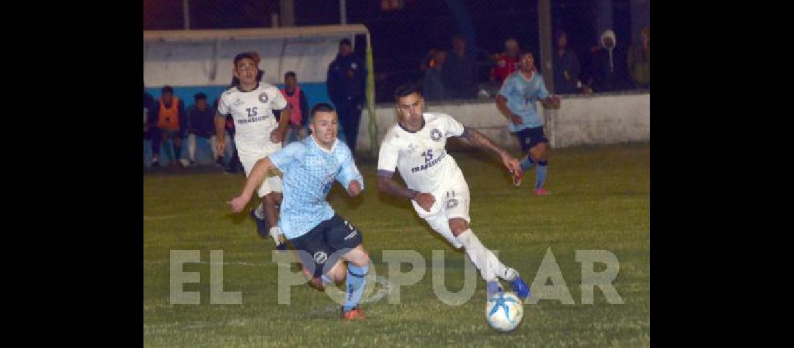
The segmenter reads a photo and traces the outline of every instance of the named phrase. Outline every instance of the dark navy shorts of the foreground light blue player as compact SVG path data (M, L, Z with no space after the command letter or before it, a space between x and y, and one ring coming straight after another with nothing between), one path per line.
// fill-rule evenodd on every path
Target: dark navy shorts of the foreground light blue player
M333 214L305 235L289 239L289 242L298 250L298 258L306 270L317 278L328 272L343 254L358 247L363 239L358 228L339 214Z

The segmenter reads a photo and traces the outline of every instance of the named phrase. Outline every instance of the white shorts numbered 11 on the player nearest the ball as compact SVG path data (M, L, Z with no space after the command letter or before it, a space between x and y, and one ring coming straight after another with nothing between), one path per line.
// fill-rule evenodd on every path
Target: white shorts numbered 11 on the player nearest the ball
M420 207L416 201L410 202L414 205L416 214L427 221L430 228L448 240L456 249L463 247L449 229L449 219L457 217L466 220L466 223L472 222L471 216L468 216L468 205L471 202L468 185L464 180L460 180L455 185L438 189L433 193L433 197L436 201L430 207L430 212Z

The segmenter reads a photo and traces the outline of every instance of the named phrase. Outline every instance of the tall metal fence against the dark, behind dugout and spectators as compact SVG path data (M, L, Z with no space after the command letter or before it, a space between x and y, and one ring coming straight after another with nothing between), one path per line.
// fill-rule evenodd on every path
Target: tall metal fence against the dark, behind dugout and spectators
M544 1L548 11L541 11ZM538 71L557 68L557 74L544 76L553 79L553 85L561 86L561 78L582 83L565 93L649 89L649 40L643 46L640 33L649 27L649 6L649 0L146 0L143 22L145 30L362 23L372 34L376 101L383 102L401 83L428 81L426 75L432 72L427 67L436 67L439 60L434 52L445 51L446 60L453 60L454 36L466 41L476 89L466 95L446 93L441 99L493 98L499 80L494 81L491 70L499 66L499 55L510 38L521 52L534 54ZM559 69L561 63L543 61L545 41L539 25L543 16L550 24L551 43L545 47L557 54L557 39L565 32L578 71L569 67L566 73ZM613 50L601 43L607 29L615 33ZM646 33L649 37L649 29ZM543 64L552 69L544 71ZM610 81L609 86L600 81L604 71L615 69L619 81Z

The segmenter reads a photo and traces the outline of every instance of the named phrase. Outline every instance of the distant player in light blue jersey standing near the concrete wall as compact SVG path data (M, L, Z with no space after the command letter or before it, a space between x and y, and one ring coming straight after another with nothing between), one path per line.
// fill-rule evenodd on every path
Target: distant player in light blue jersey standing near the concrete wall
M504 80L502 89L496 96L496 107L510 120L511 124L507 128L518 133L521 151L526 152L526 158L521 161L521 171L513 177L513 185L521 185L523 172L538 163L533 192L545 196L549 194L543 188L549 166L549 140L543 133L543 123L536 101L541 101L546 108L560 107L560 98L549 96L543 77L535 71L532 53L525 53L518 62L518 70Z

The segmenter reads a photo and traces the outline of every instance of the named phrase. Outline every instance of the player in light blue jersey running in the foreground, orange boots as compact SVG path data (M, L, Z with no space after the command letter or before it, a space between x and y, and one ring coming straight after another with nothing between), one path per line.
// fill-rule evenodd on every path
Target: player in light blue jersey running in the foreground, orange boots
M364 189L353 154L337 140L337 119L331 105L314 105L310 113L311 136L257 161L242 193L229 204L233 212L242 212L265 174L274 167L281 170L280 230L295 247L311 284L318 289L345 280L344 262L348 263L342 318L364 319L358 308L369 265L369 256L361 246L363 237L326 201L334 181L345 186L351 197Z

